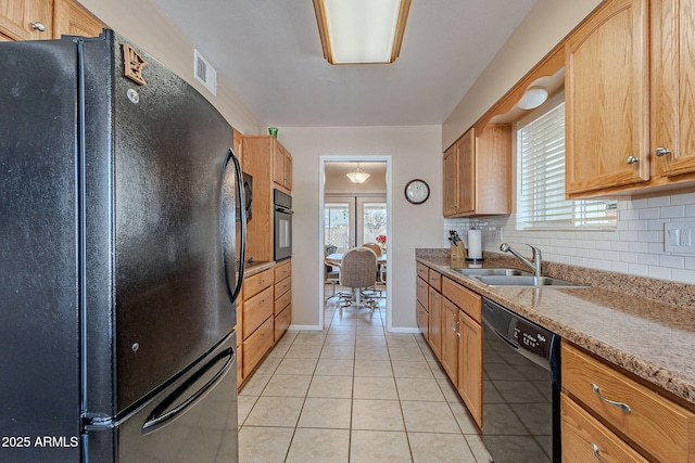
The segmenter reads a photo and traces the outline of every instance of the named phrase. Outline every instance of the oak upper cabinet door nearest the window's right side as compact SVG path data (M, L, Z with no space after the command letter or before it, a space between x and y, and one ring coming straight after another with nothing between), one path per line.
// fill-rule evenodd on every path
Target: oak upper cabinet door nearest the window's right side
M649 179L647 48L647 0L612 0L567 40L569 195Z

